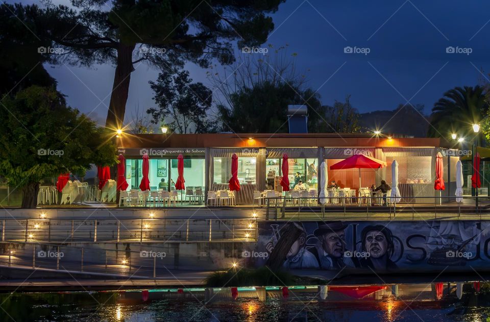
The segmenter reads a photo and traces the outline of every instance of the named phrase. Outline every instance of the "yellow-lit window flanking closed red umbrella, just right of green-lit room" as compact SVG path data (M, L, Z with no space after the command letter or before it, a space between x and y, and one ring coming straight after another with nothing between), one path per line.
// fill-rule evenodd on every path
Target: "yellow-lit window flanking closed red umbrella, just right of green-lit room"
M238 158L238 181L240 184L255 184L256 158ZM216 184L225 184L231 178L231 158L214 158L214 178Z

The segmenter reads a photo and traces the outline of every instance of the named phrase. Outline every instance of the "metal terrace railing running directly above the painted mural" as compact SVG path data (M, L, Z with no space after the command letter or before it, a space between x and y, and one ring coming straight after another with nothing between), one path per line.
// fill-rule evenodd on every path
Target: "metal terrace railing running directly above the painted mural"
M490 197L488 196L464 196L463 199L471 203L456 203L454 196L401 196L401 202L397 203L393 198L387 197L387 205L383 206L382 196L363 196L362 202L358 203L359 198L354 196L344 197L325 197L325 203L320 203L318 197L264 197L265 200L265 220L271 216L277 220L280 215L285 218L286 212L297 210L297 213L314 212L320 213L322 218L325 218L326 213L344 214L359 214L365 213L366 218L369 218L370 213L388 213L396 216L397 213L411 213L412 219L415 214L430 214L437 218L437 214L457 214L457 218L464 214L479 215L482 213L490 215ZM487 202L483 203L482 202ZM374 204L374 205L373 205ZM463 209L461 209L463 207Z

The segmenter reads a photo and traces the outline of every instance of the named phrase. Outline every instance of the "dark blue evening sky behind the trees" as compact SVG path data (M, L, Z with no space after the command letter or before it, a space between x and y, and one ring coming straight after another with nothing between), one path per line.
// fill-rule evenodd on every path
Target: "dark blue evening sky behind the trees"
M324 104L351 94L360 112L393 110L409 100L424 104L429 113L446 90L476 85L490 72L488 2L289 0L273 18L276 30L266 44L288 44L288 52L298 54L298 70L310 70L308 85L318 90ZM344 53L346 46L369 48L370 53ZM472 52L446 53L448 46ZM105 119L112 66L46 67L71 106ZM205 69L186 68L195 81L210 86ZM157 74L145 65L133 72L127 119L137 105L140 111L153 106L148 81Z

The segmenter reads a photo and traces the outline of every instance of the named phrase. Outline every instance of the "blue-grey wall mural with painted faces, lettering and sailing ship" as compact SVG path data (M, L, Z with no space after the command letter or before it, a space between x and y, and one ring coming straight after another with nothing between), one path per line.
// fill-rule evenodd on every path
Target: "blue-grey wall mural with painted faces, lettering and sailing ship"
M264 221L245 257L284 269L490 270L489 244L490 221Z

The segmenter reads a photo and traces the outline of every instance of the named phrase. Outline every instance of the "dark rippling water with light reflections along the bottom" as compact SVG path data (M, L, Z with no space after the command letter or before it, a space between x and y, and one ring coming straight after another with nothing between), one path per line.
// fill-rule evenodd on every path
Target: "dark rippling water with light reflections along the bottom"
M288 302L278 296L208 305L192 298L143 303L141 293L132 294L133 299L118 292L0 294L0 321L490 321L490 291L484 287L478 295L466 290L461 300L455 294L443 300L414 294L410 300L383 296L326 303L318 303L314 293L298 293Z

